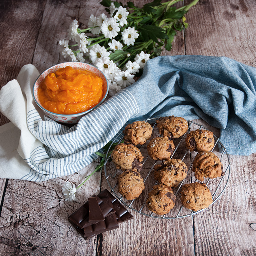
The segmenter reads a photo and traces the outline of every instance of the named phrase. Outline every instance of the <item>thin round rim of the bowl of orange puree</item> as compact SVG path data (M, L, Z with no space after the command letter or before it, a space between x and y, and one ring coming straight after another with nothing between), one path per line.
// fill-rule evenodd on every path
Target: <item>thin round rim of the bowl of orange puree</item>
M84 63L84 64L86 64L86 65L95 67L94 65L89 64L89 63L85 63L85 62L67 61L67 62L61 62L61 63L55 64L55 65L53 65L53 66L51 66L51 67L48 67L45 71L47 71L48 69L50 69L50 68L52 68L52 67L54 67L54 66L57 66L57 65L59 65L59 64L64 64L64 63ZM107 77L104 75L104 73L103 73L98 67L95 67L95 68L97 68L97 70L99 70L99 72L101 72L101 73L103 74L103 76L105 77L105 79L106 79L106 81L107 81L107 91L106 91L106 94L104 95L104 97L102 98L102 100L101 100L96 106L92 107L91 109L88 109L88 110L86 110L86 111L84 111L84 112L81 112L81 113L70 114L70 115L64 115L64 114L58 114L58 113L51 112L51 111L45 109L43 106L41 106L41 105L39 104L39 102L37 102L37 100L36 100L36 98L35 98L35 95L34 95L34 88L35 88L36 81L38 80L38 78L39 78L45 71L43 71L43 72L37 77L36 81L34 82L33 89L32 89L32 94L33 94L33 99L34 99L34 101L36 102L36 104L38 105L39 108L41 108L43 111L46 111L46 112L48 112L48 113L51 113L52 115L57 115L57 116L62 116L62 117L77 117L77 116L85 115L86 113L88 113L88 112L92 111L93 109L97 108L97 107L106 99L106 97L107 97L107 95L108 95L108 91L109 91L109 85L108 85L108 79L107 79Z

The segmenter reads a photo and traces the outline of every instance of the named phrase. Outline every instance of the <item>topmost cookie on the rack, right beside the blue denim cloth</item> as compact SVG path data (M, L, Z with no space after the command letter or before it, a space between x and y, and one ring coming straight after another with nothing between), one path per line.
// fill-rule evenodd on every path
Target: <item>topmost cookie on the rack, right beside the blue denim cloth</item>
M160 117L156 120L160 134L169 138L179 138L188 130L188 122L182 117Z

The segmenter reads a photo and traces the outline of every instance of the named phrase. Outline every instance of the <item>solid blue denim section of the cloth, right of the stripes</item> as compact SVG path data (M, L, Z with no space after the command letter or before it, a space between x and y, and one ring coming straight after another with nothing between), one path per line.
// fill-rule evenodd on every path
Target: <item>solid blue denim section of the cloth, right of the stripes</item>
M139 113L202 118L221 129L220 141L232 155L256 152L256 68L227 57L159 56L127 90Z

